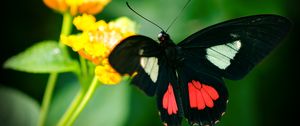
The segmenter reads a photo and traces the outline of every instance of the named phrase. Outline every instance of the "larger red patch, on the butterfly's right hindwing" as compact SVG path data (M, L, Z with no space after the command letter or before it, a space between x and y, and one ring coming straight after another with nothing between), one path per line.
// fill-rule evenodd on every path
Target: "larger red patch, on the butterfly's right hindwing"
M219 94L212 86L201 84L192 80L188 83L190 107L203 110L206 106L214 107L214 101L219 98Z

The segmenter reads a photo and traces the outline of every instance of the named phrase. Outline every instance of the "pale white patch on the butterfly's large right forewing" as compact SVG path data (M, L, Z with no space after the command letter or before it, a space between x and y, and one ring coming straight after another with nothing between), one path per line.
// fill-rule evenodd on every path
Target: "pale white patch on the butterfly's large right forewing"
M206 58L220 69L226 69L241 46L241 41L237 40L232 43L210 47L206 49Z

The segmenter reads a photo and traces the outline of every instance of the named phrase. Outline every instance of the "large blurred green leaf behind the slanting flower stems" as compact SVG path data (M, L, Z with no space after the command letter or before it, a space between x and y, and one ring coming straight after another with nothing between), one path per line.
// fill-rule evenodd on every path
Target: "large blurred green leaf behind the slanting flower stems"
M79 84L64 83L53 98L46 126L56 125L79 90ZM74 126L122 126L128 118L129 84L100 85L78 116Z

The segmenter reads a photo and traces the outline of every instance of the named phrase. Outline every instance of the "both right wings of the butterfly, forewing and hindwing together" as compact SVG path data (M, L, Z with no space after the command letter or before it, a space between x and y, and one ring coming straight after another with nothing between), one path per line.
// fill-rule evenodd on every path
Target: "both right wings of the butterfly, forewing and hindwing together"
M225 112L223 77L241 79L284 37L290 22L256 15L205 28L178 44L177 67L184 115L190 125L214 125Z

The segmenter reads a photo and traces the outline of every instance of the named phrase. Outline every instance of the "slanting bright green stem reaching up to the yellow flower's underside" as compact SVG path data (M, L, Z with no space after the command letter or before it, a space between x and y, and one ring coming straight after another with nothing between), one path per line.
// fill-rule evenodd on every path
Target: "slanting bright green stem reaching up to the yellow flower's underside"
M79 114L82 112L82 110L87 105L89 100L92 98L92 95L95 93L97 86L98 86L98 79L95 76L92 83L90 84L85 96L83 97L82 101L80 102L80 104L78 105L78 107L76 108L74 113L72 114L70 120L66 123L66 126L71 126L74 123L76 118L79 116Z

